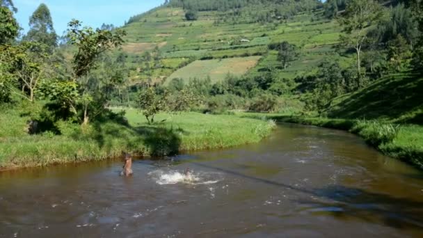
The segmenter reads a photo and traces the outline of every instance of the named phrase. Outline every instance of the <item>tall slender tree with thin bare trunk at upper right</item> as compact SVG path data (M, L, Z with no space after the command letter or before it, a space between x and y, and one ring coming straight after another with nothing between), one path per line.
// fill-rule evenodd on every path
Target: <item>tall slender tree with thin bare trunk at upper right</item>
M344 27L342 45L353 47L357 54L357 72L361 77L361 53L367 40L367 28L381 19L381 5L374 0L351 0L346 5L344 15L339 19Z

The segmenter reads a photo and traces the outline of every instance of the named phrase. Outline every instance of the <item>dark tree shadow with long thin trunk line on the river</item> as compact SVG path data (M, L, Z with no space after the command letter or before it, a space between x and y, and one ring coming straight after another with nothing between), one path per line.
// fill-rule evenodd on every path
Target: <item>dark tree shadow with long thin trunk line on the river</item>
M245 175L225 168L195 162L191 163L196 166L254 180L255 182L309 194L314 198L318 198L318 200L295 200L294 202L310 206L305 209L306 212L316 215L323 213L335 216L337 219L360 219L371 223L382 222L397 229L423 229L423 217L421 216L423 203L408 198L395 198L383 193L374 193L341 185L328 186L322 189L303 189L289 184Z

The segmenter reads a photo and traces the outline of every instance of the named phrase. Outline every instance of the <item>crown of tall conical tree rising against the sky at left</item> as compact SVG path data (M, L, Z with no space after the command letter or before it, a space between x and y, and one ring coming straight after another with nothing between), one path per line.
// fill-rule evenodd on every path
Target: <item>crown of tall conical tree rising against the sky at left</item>
M50 49L57 46L58 37L56 31L54 31L50 10L45 3L41 3L31 15L29 27L30 29L24 40L45 44Z

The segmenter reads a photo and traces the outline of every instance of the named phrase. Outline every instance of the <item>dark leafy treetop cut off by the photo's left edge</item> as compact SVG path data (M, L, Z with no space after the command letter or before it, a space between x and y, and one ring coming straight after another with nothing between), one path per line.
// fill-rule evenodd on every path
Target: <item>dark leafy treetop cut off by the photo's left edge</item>
M19 33L19 24L13 12L3 4L0 6L0 45L14 40Z

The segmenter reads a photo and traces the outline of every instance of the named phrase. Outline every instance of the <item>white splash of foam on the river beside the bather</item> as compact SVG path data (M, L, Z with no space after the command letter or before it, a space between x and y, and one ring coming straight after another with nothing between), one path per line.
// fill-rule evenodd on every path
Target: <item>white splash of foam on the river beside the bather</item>
M163 171L163 170L156 170L153 172L148 173L148 175L152 176L154 180L156 180L157 184L165 185L165 184L216 184L221 180L214 180L210 179L210 174L207 173L181 173L176 170L170 171Z

